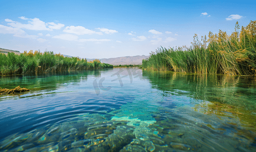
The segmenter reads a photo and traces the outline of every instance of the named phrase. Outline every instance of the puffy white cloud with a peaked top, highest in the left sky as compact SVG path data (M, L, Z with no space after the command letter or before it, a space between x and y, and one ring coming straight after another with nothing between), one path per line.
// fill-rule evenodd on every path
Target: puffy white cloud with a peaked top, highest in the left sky
M16 28L25 28L25 29L30 29L30 30L52 30L50 28L46 27L46 23L41 21L39 18L34 18L34 19L30 19L32 21L28 21L29 24L22 24L19 22L12 22L12 23L8 23L9 25L11 25L12 27L16 27Z

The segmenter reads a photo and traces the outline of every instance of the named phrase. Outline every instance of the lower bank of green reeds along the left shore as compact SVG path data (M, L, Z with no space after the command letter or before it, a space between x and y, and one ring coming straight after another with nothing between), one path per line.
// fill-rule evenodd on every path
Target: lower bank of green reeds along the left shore
M87 59L79 57L64 57L53 52L33 50L24 51L20 55L15 53L0 53L0 75L14 75L27 73L48 73L68 70L87 70L113 68L113 65L101 63L95 59L88 62Z

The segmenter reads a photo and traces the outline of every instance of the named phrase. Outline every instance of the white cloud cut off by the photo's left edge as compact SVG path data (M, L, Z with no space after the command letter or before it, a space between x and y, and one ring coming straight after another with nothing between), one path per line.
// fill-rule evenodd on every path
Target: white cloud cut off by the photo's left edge
M22 29L8 27L8 26L4 26L4 25L0 25L0 33L14 34L13 36L16 36L16 37L32 38L32 39L36 39L36 37L38 37L37 35L28 35Z

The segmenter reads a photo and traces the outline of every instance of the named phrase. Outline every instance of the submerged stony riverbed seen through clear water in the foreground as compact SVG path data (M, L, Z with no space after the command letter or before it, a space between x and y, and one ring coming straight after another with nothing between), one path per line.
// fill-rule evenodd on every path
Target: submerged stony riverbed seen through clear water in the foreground
M90 121L66 122L16 136L5 143L6 149L14 151L153 152L172 149L173 147L166 143L169 138L166 138L166 135L161 132L163 128L159 129L157 126L152 126L151 123L154 121L140 121L135 118L104 122L92 122L91 119ZM22 143L23 146L16 145L10 148L10 144L13 143L9 142ZM179 147L178 145L173 146Z

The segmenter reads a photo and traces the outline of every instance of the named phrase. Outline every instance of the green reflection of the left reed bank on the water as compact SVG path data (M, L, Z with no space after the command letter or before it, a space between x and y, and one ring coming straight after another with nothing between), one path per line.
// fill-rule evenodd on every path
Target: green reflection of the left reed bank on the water
M0 76L0 86L2 88L22 86L32 90L56 90L70 84L77 85L81 81L87 81L88 77L100 78L101 73L108 70L110 69Z

